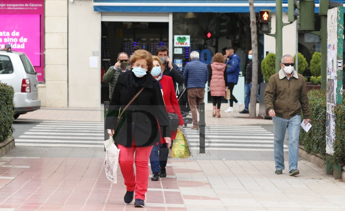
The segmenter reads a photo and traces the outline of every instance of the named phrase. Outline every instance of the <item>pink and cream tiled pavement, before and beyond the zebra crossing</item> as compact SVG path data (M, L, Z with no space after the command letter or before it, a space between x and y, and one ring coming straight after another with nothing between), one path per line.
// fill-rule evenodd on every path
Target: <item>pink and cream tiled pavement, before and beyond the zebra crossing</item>
M43 108L19 118L101 122L101 113ZM220 119L209 113L206 108L210 125L272 125L272 120L242 118L248 115L236 112L222 113ZM301 159L300 175L288 176L287 170L275 175L270 153L212 150L169 159L168 177L149 180L146 207L134 208L123 202L120 170L117 184L106 179L102 149L17 147L0 158L0 211L345 210L344 182Z

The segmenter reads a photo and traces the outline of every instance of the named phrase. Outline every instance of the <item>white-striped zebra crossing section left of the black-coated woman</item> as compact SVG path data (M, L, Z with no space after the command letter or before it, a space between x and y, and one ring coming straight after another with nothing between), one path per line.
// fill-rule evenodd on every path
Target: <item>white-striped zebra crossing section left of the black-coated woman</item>
M104 123L43 121L15 139L16 146L103 148Z

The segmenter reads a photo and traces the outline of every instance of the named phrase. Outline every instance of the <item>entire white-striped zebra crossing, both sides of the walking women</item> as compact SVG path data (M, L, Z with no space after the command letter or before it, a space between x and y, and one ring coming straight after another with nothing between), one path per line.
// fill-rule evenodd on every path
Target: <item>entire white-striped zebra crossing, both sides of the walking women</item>
M104 123L43 121L15 139L16 146L103 148ZM193 150L199 130L185 128ZM205 150L273 151L274 135L260 126L207 125ZM288 146L284 145L284 151Z

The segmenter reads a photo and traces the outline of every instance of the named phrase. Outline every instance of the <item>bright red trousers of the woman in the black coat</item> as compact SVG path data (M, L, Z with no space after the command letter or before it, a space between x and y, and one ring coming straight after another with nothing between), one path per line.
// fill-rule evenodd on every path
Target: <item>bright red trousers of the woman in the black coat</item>
M125 179L127 191L135 190L135 199L145 200L145 194L149 185L149 157L153 146L125 147L118 145L120 149L119 165L122 176ZM135 154L135 155L134 155ZM136 175L133 163L135 162Z

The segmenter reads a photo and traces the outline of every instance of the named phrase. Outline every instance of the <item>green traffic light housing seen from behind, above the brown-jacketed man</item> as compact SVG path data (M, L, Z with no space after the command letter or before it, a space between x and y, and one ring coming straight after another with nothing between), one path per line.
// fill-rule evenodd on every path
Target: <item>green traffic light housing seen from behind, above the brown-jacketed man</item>
M300 31L314 31L314 0L300 0L297 1L298 9L298 29Z

